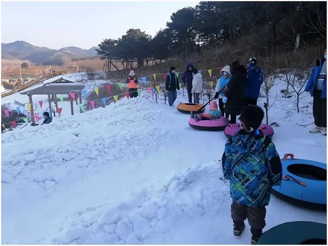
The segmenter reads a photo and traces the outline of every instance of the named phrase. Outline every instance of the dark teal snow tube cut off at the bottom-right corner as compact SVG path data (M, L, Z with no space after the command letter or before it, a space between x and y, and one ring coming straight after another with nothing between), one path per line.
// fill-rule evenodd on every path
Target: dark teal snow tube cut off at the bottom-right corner
M326 229L323 223L286 222L264 232L257 244L326 244Z

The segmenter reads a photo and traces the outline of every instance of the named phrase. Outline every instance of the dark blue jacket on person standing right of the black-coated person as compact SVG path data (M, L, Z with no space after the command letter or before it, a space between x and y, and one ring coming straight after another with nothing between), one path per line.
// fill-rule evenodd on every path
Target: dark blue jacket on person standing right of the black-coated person
M250 64L247 68L247 84L245 97L258 98L261 84L263 83L263 72L256 64Z

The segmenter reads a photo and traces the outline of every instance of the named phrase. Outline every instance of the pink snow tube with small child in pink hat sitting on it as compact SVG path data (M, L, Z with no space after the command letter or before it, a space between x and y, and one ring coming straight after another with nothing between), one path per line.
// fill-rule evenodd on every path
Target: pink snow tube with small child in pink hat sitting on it
M221 116L219 119L200 120L198 122L195 121L195 119L191 118L188 123L192 128L195 128L197 130L222 131L229 124L229 121L226 117Z

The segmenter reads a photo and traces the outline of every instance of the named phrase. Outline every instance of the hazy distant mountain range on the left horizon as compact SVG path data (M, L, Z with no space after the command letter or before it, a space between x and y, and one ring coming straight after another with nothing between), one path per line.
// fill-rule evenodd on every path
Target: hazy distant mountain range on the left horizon
M1 48L2 59L29 60L32 63L43 65L60 65L67 59L78 59L97 55L97 52L95 51L97 47L84 50L71 46L59 50L52 50L47 47L33 46L25 41L1 43Z

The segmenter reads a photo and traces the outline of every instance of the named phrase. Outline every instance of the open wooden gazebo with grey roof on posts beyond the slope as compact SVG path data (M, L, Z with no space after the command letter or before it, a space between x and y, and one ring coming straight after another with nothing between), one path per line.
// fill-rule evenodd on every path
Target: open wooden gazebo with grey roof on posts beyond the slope
M84 87L85 87L85 85L83 85L83 84L78 84L76 82L60 78L58 80L52 81L51 83L44 84L43 86L36 87L32 90L25 91L20 94L27 95L29 97L30 104L31 104L32 123L35 123L33 100L32 100L33 95L48 95L50 115L52 113L51 112L51 101L55 102L56 109L58 111L57 95L68 95L69 96L68 100L71 102L71 114L74 115L74 110L73 110L73 100L74 99L70 96L70 93L75 93L75 95L77 93L77 96L75 96L76 103L77 103L77 98L79 98L79 103L81 103L82 102L81 91L83 90ZM53 96L53 99L51 98L51 96Z

